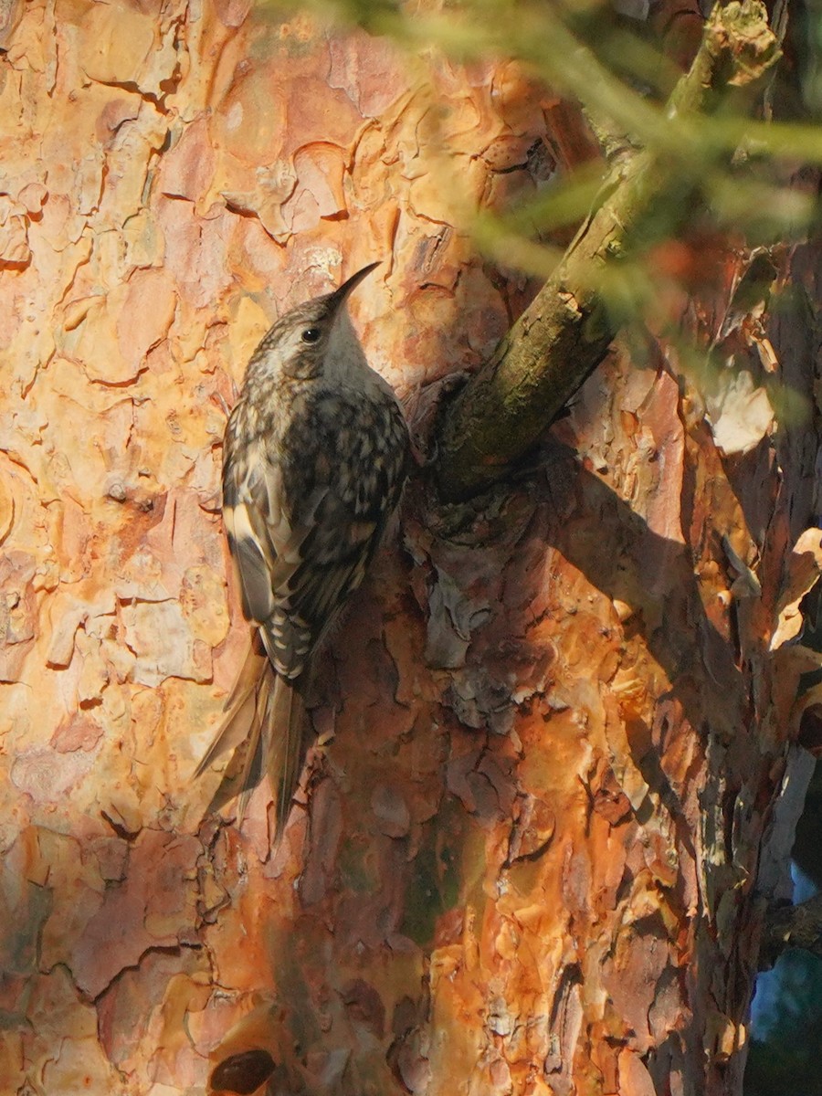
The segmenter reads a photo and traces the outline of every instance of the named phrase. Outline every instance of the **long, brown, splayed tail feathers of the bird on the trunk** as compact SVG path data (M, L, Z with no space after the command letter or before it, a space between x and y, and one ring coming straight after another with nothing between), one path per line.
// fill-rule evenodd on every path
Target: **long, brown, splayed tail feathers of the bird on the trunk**
M214 740L195 769L195 776L201 776L224 753L237 751L209 809L218 810L239 794L237 821L241 823L251 792L267 773L281 835L308 746L301 683L275 673L255 637L224 710Z

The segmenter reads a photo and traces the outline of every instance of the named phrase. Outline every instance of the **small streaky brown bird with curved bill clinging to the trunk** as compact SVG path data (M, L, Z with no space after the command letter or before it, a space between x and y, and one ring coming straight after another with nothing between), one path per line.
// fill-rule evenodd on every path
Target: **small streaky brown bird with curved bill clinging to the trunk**
M281 829L305 755L312 655L362 583L408 475L402 411L345 308L376 265L277 320L251 356L224 441L222 517L267 665L241 672L197 773L248 737L241 809L265 766Z

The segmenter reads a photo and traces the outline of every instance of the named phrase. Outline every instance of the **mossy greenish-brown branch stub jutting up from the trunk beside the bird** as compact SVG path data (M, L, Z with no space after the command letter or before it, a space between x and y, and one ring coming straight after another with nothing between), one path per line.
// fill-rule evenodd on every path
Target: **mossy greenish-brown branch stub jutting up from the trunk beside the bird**
M779 46L758 0L717 7L699 52L674 89L665 115L716 113L758 92ZM683 128L677 127L682 140ZM694 129L694 142L698 130ZM623 157L606 179L595 210L553 275L494 355L447 408L435 466L446 500L477 494L504 475L543 435L617 333L603 286L660 203L687 215L698 180L684 169L683 149L664 136L654 148ZM698 148L694 149L697 152Z

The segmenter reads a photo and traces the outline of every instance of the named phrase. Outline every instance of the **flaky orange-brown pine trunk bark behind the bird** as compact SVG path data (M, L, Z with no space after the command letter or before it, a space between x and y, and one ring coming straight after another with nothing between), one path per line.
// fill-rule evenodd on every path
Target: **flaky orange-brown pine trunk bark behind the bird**
M454 226L593 144L513 65L235 0L2 34L0 1091L739 1092L809 767L820 256L779 256L770 321L742 253L667 302L704 391L649 332L527 477L470 511L418 477L273 849L266 786L238 830L191 779L248 642L225 406L383 259L352 310L424 448L535 288Z

